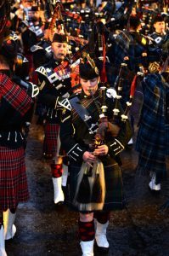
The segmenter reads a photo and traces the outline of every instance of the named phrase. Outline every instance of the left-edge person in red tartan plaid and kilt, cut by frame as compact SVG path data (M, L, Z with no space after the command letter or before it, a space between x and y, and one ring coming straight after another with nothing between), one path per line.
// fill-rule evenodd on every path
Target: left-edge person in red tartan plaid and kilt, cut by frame
M6 256L4 239L13 238L14 218L21 201L29 198L25 172L25 135L22 127L37 96L38 87L15 84L16 61L13 40L3 40L0 49L0 255Z

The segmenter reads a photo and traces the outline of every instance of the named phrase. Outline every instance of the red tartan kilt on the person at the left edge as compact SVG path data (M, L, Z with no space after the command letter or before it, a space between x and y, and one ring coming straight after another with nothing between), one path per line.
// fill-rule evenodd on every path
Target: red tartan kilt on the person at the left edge
M0 211L29 199L24 148L0 146Z

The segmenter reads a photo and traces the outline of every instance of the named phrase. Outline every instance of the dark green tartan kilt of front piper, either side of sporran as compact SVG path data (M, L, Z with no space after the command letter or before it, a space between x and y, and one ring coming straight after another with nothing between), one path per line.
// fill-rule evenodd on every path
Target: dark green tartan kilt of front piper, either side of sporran
M73 201L76 194L76 184L78 172L81 166L69 166L68 183L66 186L65 202L74 211L79 209L74 206ZM121 169L118 164L113 161L109 166L104 166L105 179L105 200L103 211L121 210L126 206L123 196Z

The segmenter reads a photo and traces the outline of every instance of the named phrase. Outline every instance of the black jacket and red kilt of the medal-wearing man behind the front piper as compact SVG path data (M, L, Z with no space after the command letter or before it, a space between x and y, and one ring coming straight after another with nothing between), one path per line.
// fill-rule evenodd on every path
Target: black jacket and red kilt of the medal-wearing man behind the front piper
M62 109L58 106L57 101L59 96L68 96L67 92L71 88L70 72L62 77L54 72L54 68L59 65L59 61L52 59L48 64L38 67L36 70L40 86L38 101L46 107L43 154L51 157L56 155L59 123L62 114Z

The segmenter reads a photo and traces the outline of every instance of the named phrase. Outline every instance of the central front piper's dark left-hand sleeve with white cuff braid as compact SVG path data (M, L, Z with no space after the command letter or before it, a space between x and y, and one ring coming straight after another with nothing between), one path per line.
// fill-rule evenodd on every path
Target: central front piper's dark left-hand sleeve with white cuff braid
M66 153L71 160L82 161L82 155L87 148L82 147L74 139L75 127L73 126L71 120L71 111L66 110L63 114L62 123L60 125L60 141L62 147L65 149Z

